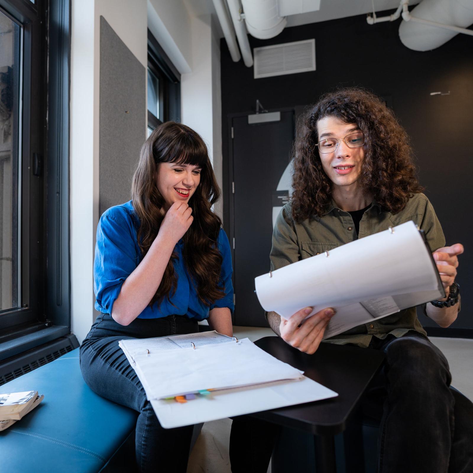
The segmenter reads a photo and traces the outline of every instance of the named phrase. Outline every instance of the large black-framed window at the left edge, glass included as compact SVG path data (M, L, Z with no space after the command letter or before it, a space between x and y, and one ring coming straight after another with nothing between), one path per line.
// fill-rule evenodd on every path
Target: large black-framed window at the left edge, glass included
M0 0L0 362L70 333L69 9Z

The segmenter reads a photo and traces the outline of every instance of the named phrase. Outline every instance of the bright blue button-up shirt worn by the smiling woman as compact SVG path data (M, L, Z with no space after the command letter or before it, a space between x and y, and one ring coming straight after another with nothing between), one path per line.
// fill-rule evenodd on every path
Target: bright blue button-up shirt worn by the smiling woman
M142 259L137 237L139 224L131 201L111 207L100 218L94 261L95 308L100 312L112 313L114 301L120 294L123 281ZM196 283L192 282L193 278L184 265L182 256L184 243L181 239L174 248L178 256L174 261L177 276L174 296L170 298L170 302L165 297L160 304L155 302L152 307L147 306L138 317L149 319L167 315L186 315L189 318L203 320L209 316L209 310L214 307L228 307L233 312L232 260L228 237L223 229L220 229L217 244L223 257L220 270L220 287L225 291L223 298L216 300L210 307L198 298L194 289Z

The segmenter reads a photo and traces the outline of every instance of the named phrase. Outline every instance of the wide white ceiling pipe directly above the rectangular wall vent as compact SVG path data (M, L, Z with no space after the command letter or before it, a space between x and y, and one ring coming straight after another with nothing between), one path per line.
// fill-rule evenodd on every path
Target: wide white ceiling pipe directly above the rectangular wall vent
M248 33L258 39L274 38L286 26L277 0L241 0Z

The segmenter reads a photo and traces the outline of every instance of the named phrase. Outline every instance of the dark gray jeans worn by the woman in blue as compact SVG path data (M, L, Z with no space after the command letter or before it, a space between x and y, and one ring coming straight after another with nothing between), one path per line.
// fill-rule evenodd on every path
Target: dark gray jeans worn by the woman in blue
M198 332L197 321L180 315L135 319L123 326L111 315L101 314L80 346L80 369L92 391L139 412L135 451L140 472L185 473L193 426L161 427L118 341L194 332Z

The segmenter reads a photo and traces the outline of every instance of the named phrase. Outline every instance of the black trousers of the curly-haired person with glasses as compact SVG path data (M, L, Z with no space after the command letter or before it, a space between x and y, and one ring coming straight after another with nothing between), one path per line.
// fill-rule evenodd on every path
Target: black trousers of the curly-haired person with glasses
M383 369L371 382L361 409L379 421L379 473L473 473L473 404L449 388L447 359L413 332L385 340ZM230 435L233 473L265 473L280 428L236 418ZM291 451L291 455L297 452Z

